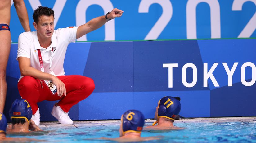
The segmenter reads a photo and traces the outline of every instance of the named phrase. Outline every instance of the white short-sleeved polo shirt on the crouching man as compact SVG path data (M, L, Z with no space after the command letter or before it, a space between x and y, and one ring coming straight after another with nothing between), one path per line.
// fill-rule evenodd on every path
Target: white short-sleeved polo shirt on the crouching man
M41 71L38 50L41 50L43 59L44 72L49 73L50 69L50 55L53 48L52 55L52 69L56 76L65 75L63 63L67 47L70 42L75 42L76 31L78 27L67 27L54 30L52 34L52 43L49 47L43 48L40 46L37 31L23 32L18 40L18 57L27 57L30 59L31 67ZM23 76L20 75L20 79ZM19 81L20 81L19 79Z

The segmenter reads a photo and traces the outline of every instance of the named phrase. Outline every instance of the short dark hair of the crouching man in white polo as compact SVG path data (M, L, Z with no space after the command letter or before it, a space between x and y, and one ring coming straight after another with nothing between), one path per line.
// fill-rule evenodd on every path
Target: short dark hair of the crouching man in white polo
M42 15L45 16L53 16L54 19L54 11L51 8L38 6L38 8L33 12L34 22L38 23L38 18Z

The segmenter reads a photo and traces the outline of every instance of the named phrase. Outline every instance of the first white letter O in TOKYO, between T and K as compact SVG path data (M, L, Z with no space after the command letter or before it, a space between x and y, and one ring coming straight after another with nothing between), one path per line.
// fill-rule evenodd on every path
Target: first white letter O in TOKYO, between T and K
M191 67L193 69L193 81L191 83L187 83L186 81L186 69L188 67ZM183 67L182 67L182 83L183 85L185 85L188 88L191 88L193 86L195 86L197 82L197 68L193 63L186 63Z

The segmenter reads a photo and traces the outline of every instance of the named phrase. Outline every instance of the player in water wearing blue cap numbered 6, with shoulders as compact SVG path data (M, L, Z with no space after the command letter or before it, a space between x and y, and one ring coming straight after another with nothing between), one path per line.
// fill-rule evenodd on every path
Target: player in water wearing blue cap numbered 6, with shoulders
M145 122L144 115L138 110L128 110L121 116L121 125L118 138L100 139L118 141L118 142L139 142L158 140L159 137L141 137L141 131Z

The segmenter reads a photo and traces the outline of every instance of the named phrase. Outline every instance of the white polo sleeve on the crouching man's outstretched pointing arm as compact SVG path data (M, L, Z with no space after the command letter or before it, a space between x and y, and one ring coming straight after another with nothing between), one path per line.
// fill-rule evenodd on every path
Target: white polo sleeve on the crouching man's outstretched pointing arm
M67 44L75 42L77 28L78 27L76 26L62 28L58 36L61 36L61 39L63 39Z

